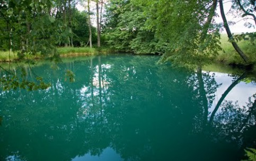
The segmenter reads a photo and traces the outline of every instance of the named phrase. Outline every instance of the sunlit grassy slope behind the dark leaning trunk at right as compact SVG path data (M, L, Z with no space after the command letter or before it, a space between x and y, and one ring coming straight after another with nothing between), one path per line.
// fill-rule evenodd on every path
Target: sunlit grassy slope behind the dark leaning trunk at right
M226 34L220 36L221 46L224 50L219 51L215 61L223 64L245 64L240 55L235 51L231 42L228 42ZM241 50L248 56L250 63L256 63L256 45L253 45L250 41L237 42Z

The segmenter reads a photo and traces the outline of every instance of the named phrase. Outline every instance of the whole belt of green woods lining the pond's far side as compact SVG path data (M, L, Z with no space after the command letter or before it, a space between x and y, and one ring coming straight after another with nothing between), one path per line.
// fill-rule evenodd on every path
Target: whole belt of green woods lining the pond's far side
M160 62L178 67L200 67L211 63L222 50L220 31L225 29L237 58L255 64L255 54L245 53L237 42L250 40L255 48L255 32L234 35L226 15L252 19L255 1L232 1L227 13L225 1L135 1L135 0L8 0L0 1L0 50L16 59L29 55L60 61L57 47L100 48L118 52L161 54ZM81 5L83 11L78 11ZM217 11L220 11L220 14ZM222 23L215 18L220 16ZM234 22L233 22L234 23ZM252 46L252 47L251 47ZM252 55L252 56L251 56ZM32 63L31 63L32 64ZM1 67L4 69L3 67ZM6 69L4 69L6 70ZM7 69L8 73L12 73ZM5 79L2 82L8 81Z

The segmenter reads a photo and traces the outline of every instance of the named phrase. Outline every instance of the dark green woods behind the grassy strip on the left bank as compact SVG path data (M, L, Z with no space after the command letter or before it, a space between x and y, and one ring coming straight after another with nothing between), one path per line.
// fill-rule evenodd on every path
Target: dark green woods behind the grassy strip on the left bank
M0 50L51 53L42 48L86 45L89 16L87 11L77 10L77 3L70 0L2 2ZM94 43L95 31L92 27Z

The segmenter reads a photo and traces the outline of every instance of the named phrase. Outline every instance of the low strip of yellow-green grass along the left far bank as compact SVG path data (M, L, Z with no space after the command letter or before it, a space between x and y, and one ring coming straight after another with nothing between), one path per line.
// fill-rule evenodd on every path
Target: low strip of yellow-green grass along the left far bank
M79 55L95 55L95 54L106 54L111 52L108 48L73 48L63 47L57 48L61 57L68 56L79 56ZM17 52L0 51L0 62L12 62L17 60ZM29 59L42 59L40 54L28 55Z

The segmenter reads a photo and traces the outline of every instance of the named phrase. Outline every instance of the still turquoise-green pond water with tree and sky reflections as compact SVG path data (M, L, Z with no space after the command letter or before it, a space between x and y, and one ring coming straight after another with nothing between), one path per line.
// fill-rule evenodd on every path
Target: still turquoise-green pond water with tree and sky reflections
M158 59L95 56L57 70L34 67L49 89L0 91L0 160L228 161L255 148L253 78ZM74 83L65 81L67 69Z

